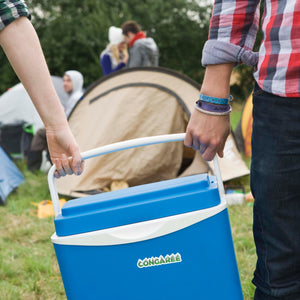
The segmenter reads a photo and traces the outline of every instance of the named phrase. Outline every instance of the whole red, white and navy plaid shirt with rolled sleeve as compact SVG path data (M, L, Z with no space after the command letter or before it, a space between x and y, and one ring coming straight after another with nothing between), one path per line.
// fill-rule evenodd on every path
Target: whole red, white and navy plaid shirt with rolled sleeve
M265 0L263 41L252 52L259 25L259 0L215 0L202 63L245 62L270 93L300 97L300 0Z

